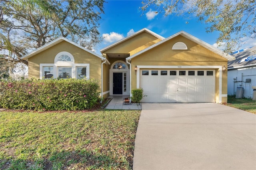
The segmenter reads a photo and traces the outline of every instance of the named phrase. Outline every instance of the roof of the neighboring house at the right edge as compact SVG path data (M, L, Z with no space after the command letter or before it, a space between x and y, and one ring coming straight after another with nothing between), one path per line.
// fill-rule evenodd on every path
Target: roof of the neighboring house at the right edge
M235 60L228 62L228 69L242 67L252 67L256 65L256 46L246 49L242 52L233 54Z

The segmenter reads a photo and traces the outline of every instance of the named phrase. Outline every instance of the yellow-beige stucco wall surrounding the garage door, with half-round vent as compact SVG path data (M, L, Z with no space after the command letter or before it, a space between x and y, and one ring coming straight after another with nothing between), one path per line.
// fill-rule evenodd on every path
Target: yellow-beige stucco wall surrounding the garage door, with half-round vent
M188 50L172 50L172 46L176 42L184 42ZM194 43L182 36L177 36L160 44L153 49L150 49L134 58L131 62L131 77L132 83L131 88L135 89L137 85L137 77L134 68L136 65L172 65L172 66L222 66L227 67L228 60L208 49ZM216 70L216 102L219 98L219 69ZM138 71L137 71L138 72ZM139 73L139 72L138 72ZM227 76L226 73L222 73L222 94L227 94ZM222 103L227 102L226 97L222 97Z

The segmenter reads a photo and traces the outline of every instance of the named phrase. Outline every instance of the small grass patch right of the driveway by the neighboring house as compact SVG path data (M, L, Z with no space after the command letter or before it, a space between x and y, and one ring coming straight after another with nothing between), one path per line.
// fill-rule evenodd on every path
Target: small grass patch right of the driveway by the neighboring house
M236 96L228 96L225 105L256 114L256 101L252 99L236 99Z

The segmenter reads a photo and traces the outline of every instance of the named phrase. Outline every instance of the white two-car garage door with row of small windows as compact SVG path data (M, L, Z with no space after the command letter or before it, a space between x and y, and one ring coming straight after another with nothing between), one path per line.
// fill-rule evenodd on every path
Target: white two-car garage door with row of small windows
M215 70L140 70L142 102L215 102Z

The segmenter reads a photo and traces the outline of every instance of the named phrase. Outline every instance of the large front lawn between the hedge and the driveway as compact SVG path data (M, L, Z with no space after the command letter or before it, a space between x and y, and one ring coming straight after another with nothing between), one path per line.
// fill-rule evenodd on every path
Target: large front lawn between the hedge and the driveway
M0 112L0 169L132 169L140 111Z

